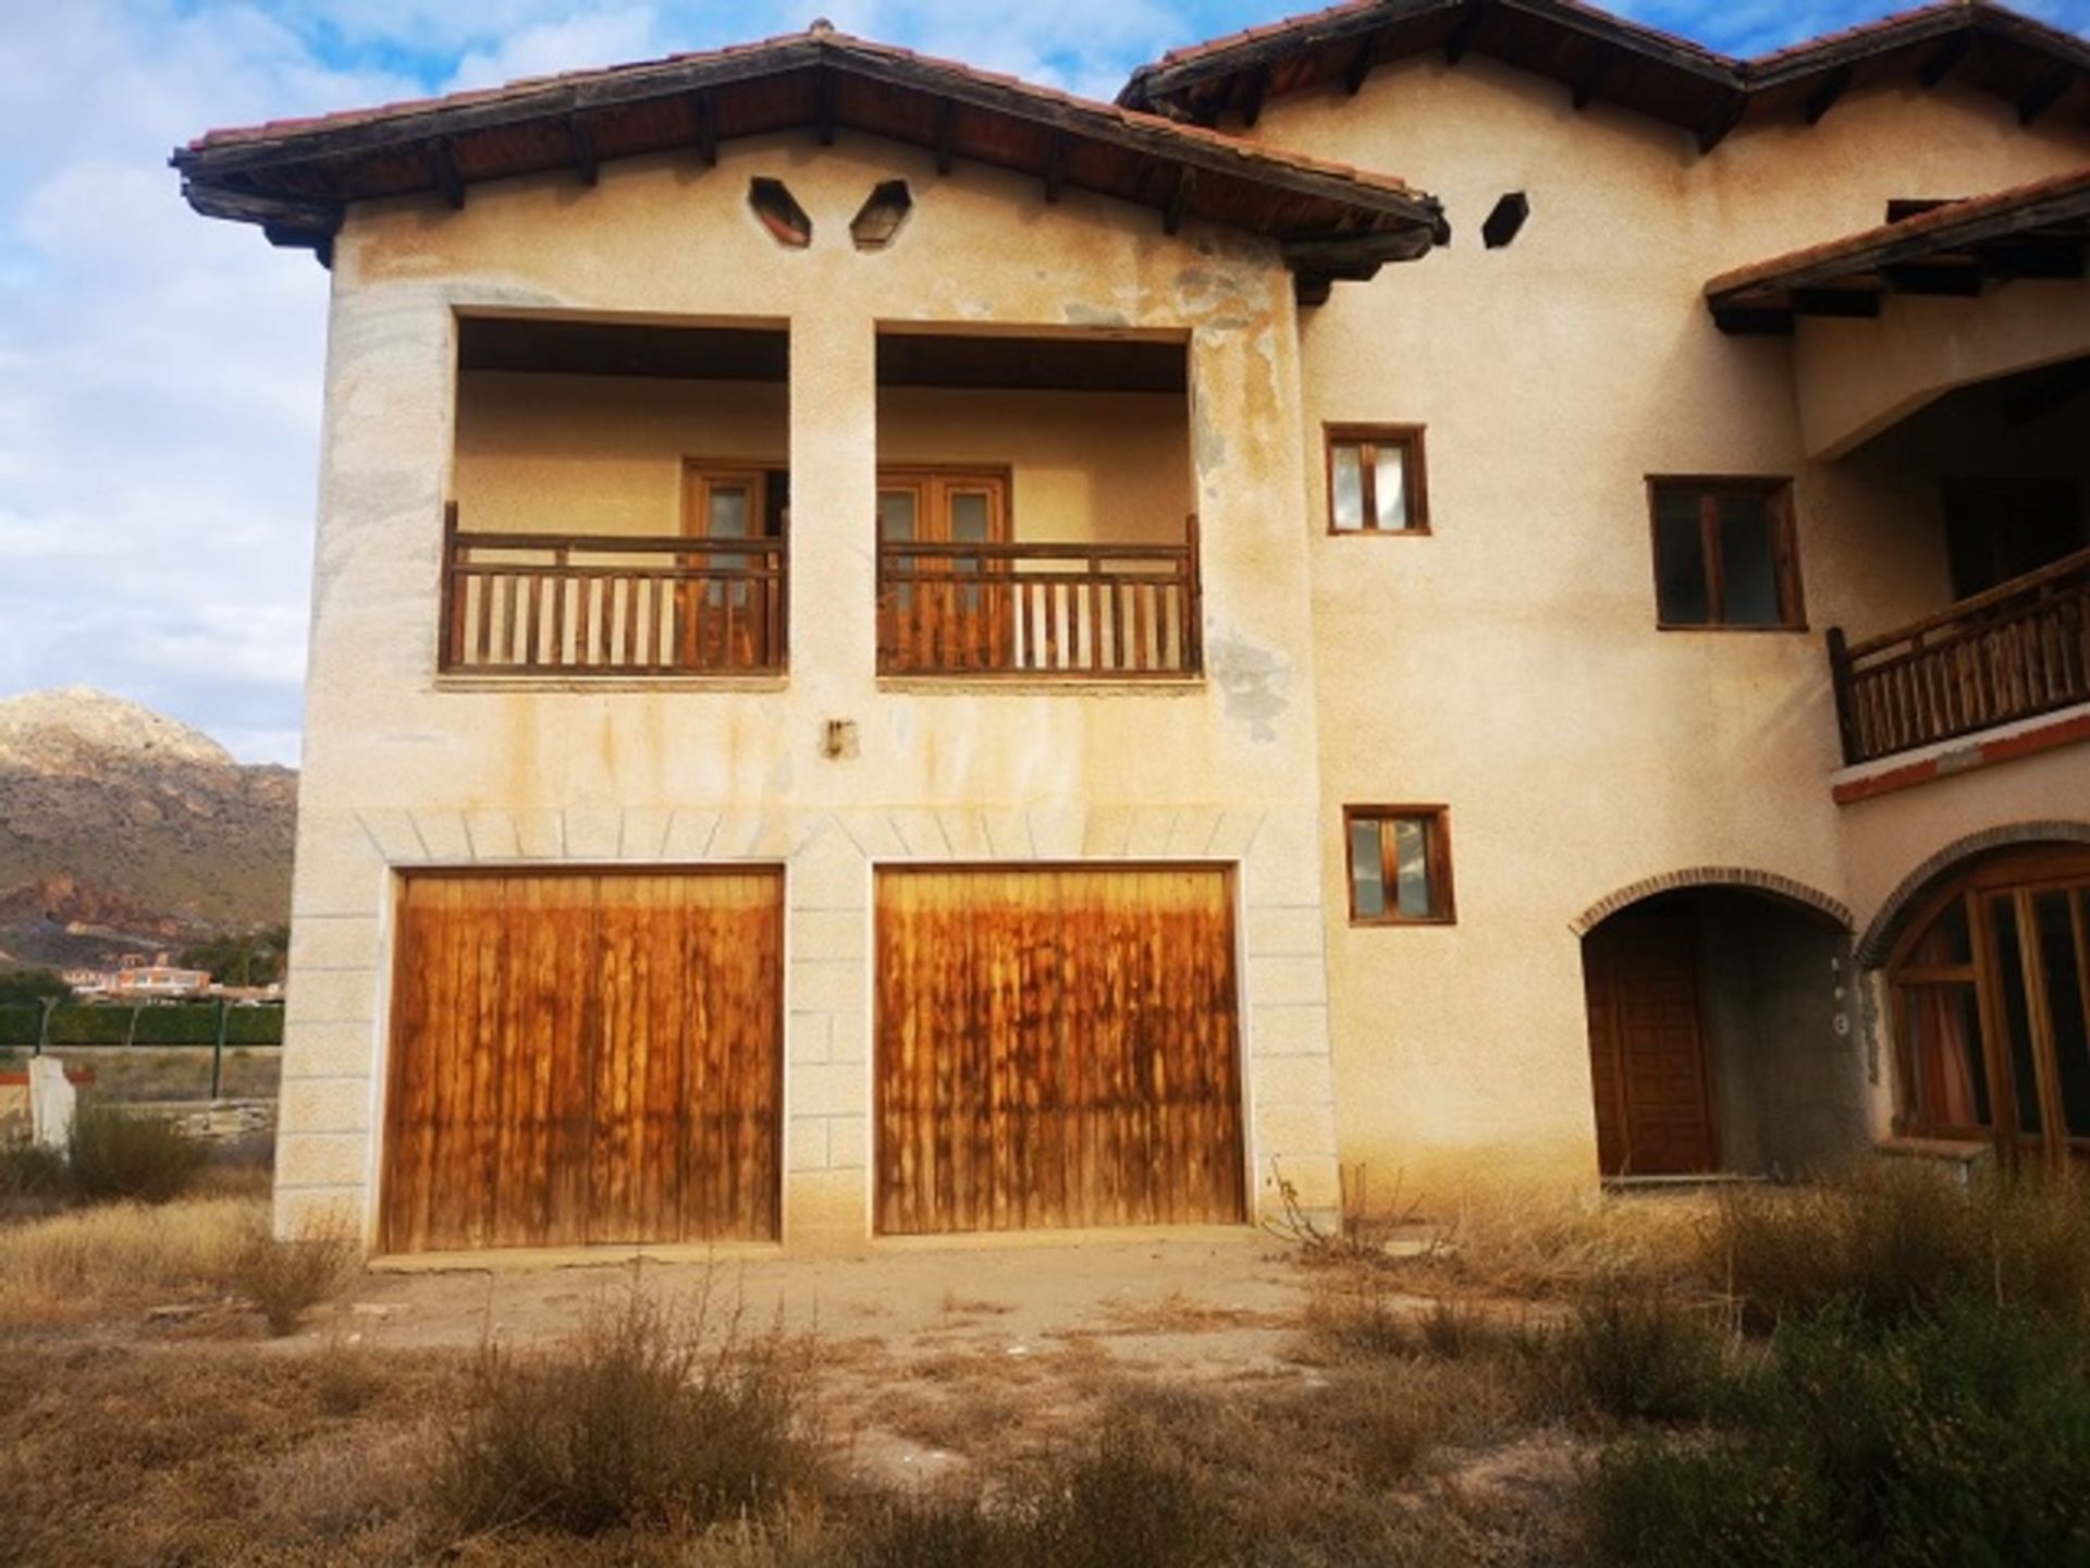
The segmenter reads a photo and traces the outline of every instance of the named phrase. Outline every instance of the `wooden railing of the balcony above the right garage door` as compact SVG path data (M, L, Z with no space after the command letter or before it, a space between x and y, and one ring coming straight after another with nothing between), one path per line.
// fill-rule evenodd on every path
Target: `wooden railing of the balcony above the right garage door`
M882 675L1152 679L1204 667L1183 544L878 546Z

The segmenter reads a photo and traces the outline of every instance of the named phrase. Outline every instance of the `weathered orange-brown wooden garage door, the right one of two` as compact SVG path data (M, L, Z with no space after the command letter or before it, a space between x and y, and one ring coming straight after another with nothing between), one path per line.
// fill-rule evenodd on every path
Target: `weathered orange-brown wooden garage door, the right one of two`
M1241 1217L1227 872L880 872L880 1231Z

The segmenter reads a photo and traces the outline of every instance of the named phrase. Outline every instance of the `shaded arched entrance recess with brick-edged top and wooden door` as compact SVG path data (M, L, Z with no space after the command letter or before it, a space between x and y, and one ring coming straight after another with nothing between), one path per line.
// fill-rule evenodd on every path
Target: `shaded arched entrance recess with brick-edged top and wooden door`
M1582 937L1607 1179L1793 1175L1864 1146L1850 930L1825 905L1682 886Z

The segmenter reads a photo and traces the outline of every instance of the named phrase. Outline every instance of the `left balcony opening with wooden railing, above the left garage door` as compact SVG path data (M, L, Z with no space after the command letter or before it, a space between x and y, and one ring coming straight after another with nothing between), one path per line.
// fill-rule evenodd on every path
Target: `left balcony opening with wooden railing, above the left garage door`
M439 665L784 669L780 328L460 318Z

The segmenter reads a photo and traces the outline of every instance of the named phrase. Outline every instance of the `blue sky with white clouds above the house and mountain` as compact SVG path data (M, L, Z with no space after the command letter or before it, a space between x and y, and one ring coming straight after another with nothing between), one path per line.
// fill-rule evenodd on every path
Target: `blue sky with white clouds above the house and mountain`
M176 142L819 13L1108 96L1164 48L1306 2L0 0L0 696L84 682L297 759L326 274L192 217ZM1731 52L1894 8L1620 6ZM2023 8L2090 31L2090 0Z

